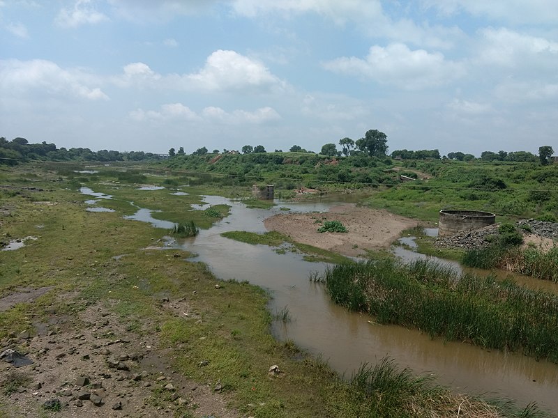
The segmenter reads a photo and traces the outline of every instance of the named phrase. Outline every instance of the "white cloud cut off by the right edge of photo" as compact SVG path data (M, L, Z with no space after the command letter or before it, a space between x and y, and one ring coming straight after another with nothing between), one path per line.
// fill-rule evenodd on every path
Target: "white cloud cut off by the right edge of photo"
M532 59L550 58L553 68L558 65L558 42L525 35L506 28L481 29L480 60L489 64L513 66Z

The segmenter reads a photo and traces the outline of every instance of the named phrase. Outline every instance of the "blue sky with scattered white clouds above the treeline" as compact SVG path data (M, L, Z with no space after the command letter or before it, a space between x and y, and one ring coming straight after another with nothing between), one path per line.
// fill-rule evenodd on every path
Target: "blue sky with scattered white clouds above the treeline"
M479 156L557 127L557 0L0 0L8 140Z

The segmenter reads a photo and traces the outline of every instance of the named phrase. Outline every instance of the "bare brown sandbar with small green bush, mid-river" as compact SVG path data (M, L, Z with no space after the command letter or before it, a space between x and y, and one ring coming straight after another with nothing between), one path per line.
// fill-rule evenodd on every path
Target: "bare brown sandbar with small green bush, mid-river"
M319 233L325 221L340 221L346 233ZM389 247L405 229L417 221L386 210L363 208L351 203L333 206L329 212L287 213L264 222L269 231L278 231L296 242L334 251L345 256L361 256L366 250Z

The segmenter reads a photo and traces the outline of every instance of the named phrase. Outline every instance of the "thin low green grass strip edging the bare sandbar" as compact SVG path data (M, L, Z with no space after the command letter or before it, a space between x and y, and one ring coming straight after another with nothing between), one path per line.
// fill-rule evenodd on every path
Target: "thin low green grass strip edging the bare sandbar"
M287 243L288 245L291 245L295 251L299 251L301 254L304 254L303 258L306 261L312 261L315 263L342 263L349 260L349 258L336 254L332 251L295 242L289 236L276 231L269 231L266 233L227 231L221 233L221 236L231 240L246 242L247 244L269 245L269 247L281 247ZM284 251L284 249L281 250Z

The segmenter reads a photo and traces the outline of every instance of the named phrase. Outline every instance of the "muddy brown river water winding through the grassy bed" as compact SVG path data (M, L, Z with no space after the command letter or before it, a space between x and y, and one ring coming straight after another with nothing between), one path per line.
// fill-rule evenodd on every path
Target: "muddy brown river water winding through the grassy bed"
M297 212L324 211L334 202L280 202L271 210L259 210L246 209L243 203L220 196L204 196L204 201L200 209L228 204L231 213L211 229L176 245L197 254L195 260L209 265L220 279L248 280L269 289L271 311L288 307L292 316L291 322L274 325L278 339L292 339L299 347L321 355L345 376L365 362L375 364L388 356L416 373L434 373L437 382L457 392L511 398L522 407L535 401L541 408L558 413L557 364L518 353L483 350L468 343L430 339L427 334L397 325L378 325L370 316L333 304L324 286L308 279L312 272L323 272L326 265L303 261L299 254L278 254L271 247L220 236L225 231L265 232L264 219L280 212L280 207ZM406 260L423 257L402 247L394 251ZM453 265L460 268L457 263ZM546 288L558 291L555 284L543 282Z

